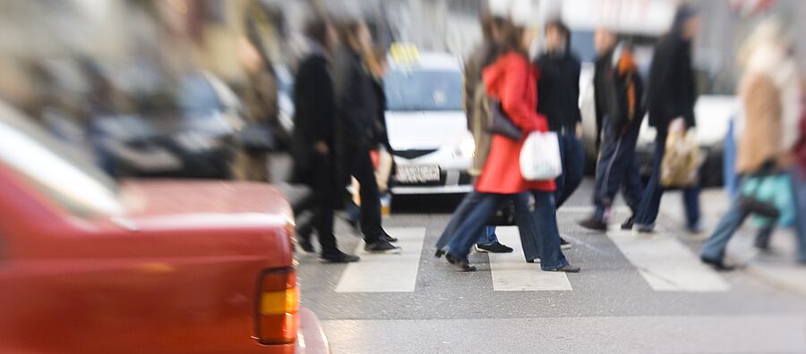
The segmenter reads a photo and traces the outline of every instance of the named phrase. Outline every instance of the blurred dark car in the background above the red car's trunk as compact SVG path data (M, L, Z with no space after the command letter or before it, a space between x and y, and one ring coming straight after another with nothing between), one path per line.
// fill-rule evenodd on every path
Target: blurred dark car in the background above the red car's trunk
M236 128L241 124L237 97L206 72L185 77L179 96L176 113L93 117L90 137L107 173L118 177L230 177Z

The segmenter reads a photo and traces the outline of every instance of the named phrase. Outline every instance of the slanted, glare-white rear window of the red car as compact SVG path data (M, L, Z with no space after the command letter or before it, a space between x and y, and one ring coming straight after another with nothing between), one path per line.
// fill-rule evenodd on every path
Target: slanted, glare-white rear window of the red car
M116 184L30 122L0 105L0 163L78 216L117 215Z

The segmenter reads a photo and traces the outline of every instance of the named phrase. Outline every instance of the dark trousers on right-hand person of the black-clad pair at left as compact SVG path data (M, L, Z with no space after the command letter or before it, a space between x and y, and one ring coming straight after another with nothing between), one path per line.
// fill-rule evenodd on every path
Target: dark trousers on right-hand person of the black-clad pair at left
M373 160L369 148L354 147L347 152L347 171L356 177L361 185L358 195L361 198L361 232L367 244L380 240L381 227L381 194L378 181L375 180Z

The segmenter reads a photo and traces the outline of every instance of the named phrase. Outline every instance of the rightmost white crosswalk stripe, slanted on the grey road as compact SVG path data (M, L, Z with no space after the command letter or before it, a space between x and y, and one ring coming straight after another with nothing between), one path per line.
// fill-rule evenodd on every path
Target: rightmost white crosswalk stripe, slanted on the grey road
M639 236L632 232L608 232L607 236L654 291L716 292L731 288L721 275L702 264L699 257L672 236Z

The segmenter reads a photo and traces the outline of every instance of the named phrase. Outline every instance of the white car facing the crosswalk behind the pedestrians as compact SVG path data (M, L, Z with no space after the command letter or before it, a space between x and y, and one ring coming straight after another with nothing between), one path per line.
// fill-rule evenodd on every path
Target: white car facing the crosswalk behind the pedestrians
M475 145L462 109L462 71L449 54L390 57L384 77L386 125L397 166L392 194L473 190Z

